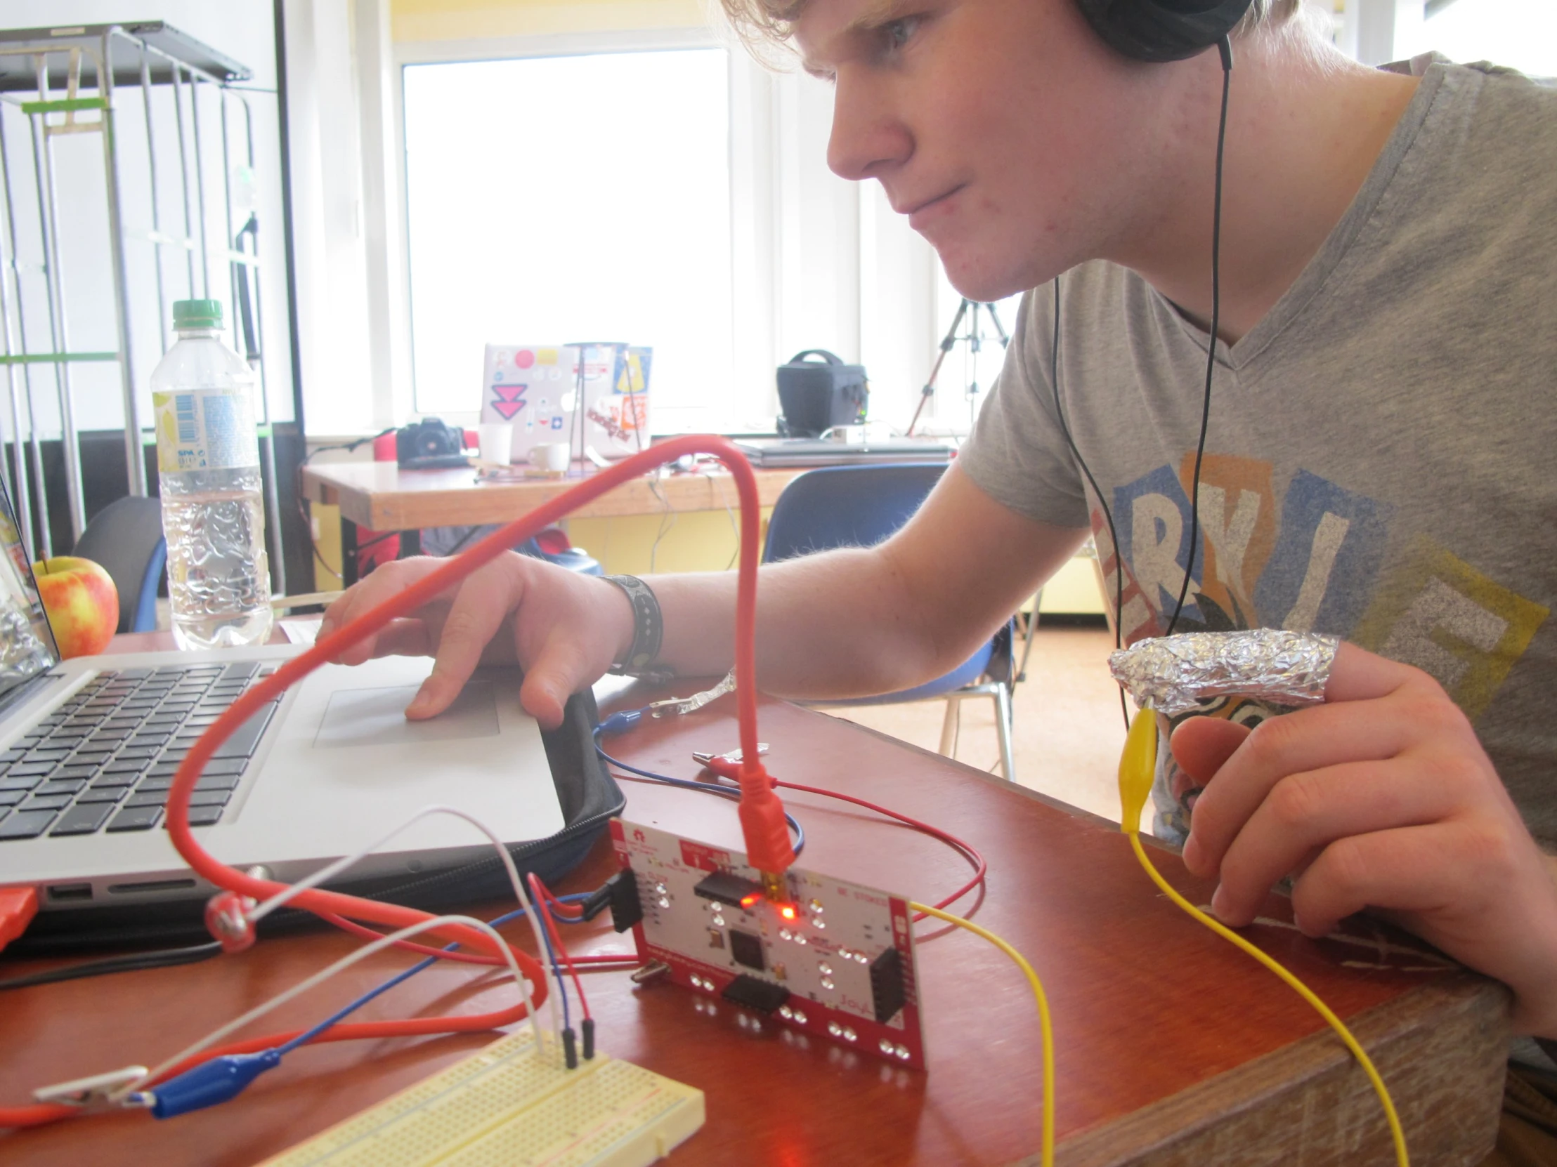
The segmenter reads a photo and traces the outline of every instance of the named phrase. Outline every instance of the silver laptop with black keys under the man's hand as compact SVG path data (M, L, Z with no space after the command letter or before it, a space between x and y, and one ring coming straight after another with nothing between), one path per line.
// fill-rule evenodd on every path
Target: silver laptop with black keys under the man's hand
M11 503L0 487L0 885L40 910L204 898L163 829L190 744L244 688L304 649L143 652L59 661ZM506 842L562 829L545 747L515 669L478 672L439 717L408 722L427 658L327 664L235 733L207 764L190 820L223 862L294 881L456 806ZM424 818L350 874L456 867L490 843Z

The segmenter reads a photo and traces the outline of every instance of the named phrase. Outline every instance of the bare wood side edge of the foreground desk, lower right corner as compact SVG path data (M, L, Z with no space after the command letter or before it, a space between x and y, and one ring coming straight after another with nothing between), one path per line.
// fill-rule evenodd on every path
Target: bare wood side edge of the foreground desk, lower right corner
M1286 993L1272 982L1272 991ZM1436 1019L1431 1024L1429 1019ZM1474 974L1437 979L1347 1021L1386 1086L1409 1075L1437 1089L1401 1113L1414 1167L1471 1167L1498 1133L1509 1046L1509 993ZM1143 1050L1172 1057L1143 1041ZM1063 1089L1063 1083L1060 1083ZM1408 1091L1398 1091L1404 1097ZM1283 1122L1281 1116L1291 1120ZM1322 1130L1316 1130L1316 1125ZM1297 1130L1274 1145L1272 1130ZM1365 1145L1376 1155L1358 1158ZM1067 1139L1063 1167L1207 1167L1266 1164L1353 1167L1392 1164L1378 1095L1327 1027L1236 1066L1116 1122ZM1020 1161L1037 1167L1039 1156Z

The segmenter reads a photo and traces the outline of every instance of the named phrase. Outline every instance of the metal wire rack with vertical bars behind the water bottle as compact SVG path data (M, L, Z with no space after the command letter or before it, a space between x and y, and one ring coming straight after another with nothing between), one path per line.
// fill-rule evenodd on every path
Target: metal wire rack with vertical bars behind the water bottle
M276 451L271 436L269 394L260 353L260 263L258 224L252 212L235 202L234 160L254 173L254 115L248 98L235 86L251 72L209 45L160 22L86 25L72 28L26 28L0 31L0 367L6 370L11 462L6 467L25 545L44 555L53 554L48 531L48 496L39 433L40 394L53 381L53 405L59 411L64 445L65 493L72 538L86 526L78 440L76 398L72 372L83 364L117 363L125 411L125 457L129 493L146 493L143 445L154 434L142 428L142 409L132 369L131 336L137 313L149 311L149 297L131 294L126 271L126 244L151 244L156 272L156 335L165 352L170 339L173 299L224 299L230 321L232 347L244 355L255 372L260 422L260 461L265 476L266 531L272 584L285 593L285 565L280 548L280 506L277 501ZM159 126L153 93L171 90L173 126ZM215 93L216 117L202 117ZM139 101L126 100L139 96ZM135 106L139 104L139 110ZM145 120L145 171L149 176L149 223L126 223L123 118ZM12 165L8 132L25 121L31 137L31 176ZM212 121L218 124L212 124ZM106 238L111 268L114 335L107 352L83 352L72 345L67 319L65 269L61 243L78 232L72 243L90 246L103 224L83 223L79 215L64 215L59 198L56 143L65 135L97 134L103 145L106 188ZM212 142L216 137L218 142ZM212 182L207 159L220 149L221 177ZM173 159L163 157L174 151ZM174 170L167 170L174 166ZM165 205L167 182L159 174L176 176L179 198ZM220 201L223 238L213 240L212 202ZM240 221L243 216L243 221ZM19 249L20 244L20 249ZM37 255L28 261L23 252ZM165 274L163 255L181 257L184 280ZM213 280L213 265L216 279ZM227 294L220 293L226 272ZM37 279L40 277L40 280ZM177 285L184 286L179 288ZM213 289L213 283L216 289ZM173 285L173 286L168 286ZM28 314L47 316L47 328L28 328ZM47 347L36 341L47 336ZM51 373L51 377L50 377ZM0 459L3 461L3 459ZM28 473L28 467L31 473ZM33 531L33 499L42 521Z

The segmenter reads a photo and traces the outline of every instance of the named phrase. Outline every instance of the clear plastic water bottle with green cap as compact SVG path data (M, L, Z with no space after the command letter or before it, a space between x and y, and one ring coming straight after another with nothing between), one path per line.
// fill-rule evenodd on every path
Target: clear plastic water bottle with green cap
M173 638L181 649L263 644L271 573L254 373L221 342L220 300L173 305L177 342L151 373Z

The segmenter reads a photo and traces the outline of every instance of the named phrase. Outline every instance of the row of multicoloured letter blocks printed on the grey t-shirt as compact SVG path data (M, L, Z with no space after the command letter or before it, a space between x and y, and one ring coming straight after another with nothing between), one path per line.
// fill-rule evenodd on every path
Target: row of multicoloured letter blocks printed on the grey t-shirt
M1194 453L1176 475L1158 467L1113 492L1123 555L1119 626L1126 643L1160 636L1183 587L1190 552ZM1537 629L1551 615L1537 604L1418 537L1386 549L1395 507L1299 470L1280 507L1269 462L1207 454L1200 468L1199 552L1179 630L1285 627L1325 632L1431 674L1474 722L1493 702ZM1093 538L1115 604L1119 560L1099 510ZM1242 697L1196 714L1258 725L1286 713ZM1174 724L1183 717L1174 719ZM1169 727L1171 730L1171 727ZM1200 786L1166 748L1154 783L1155 832L1188 832Z

